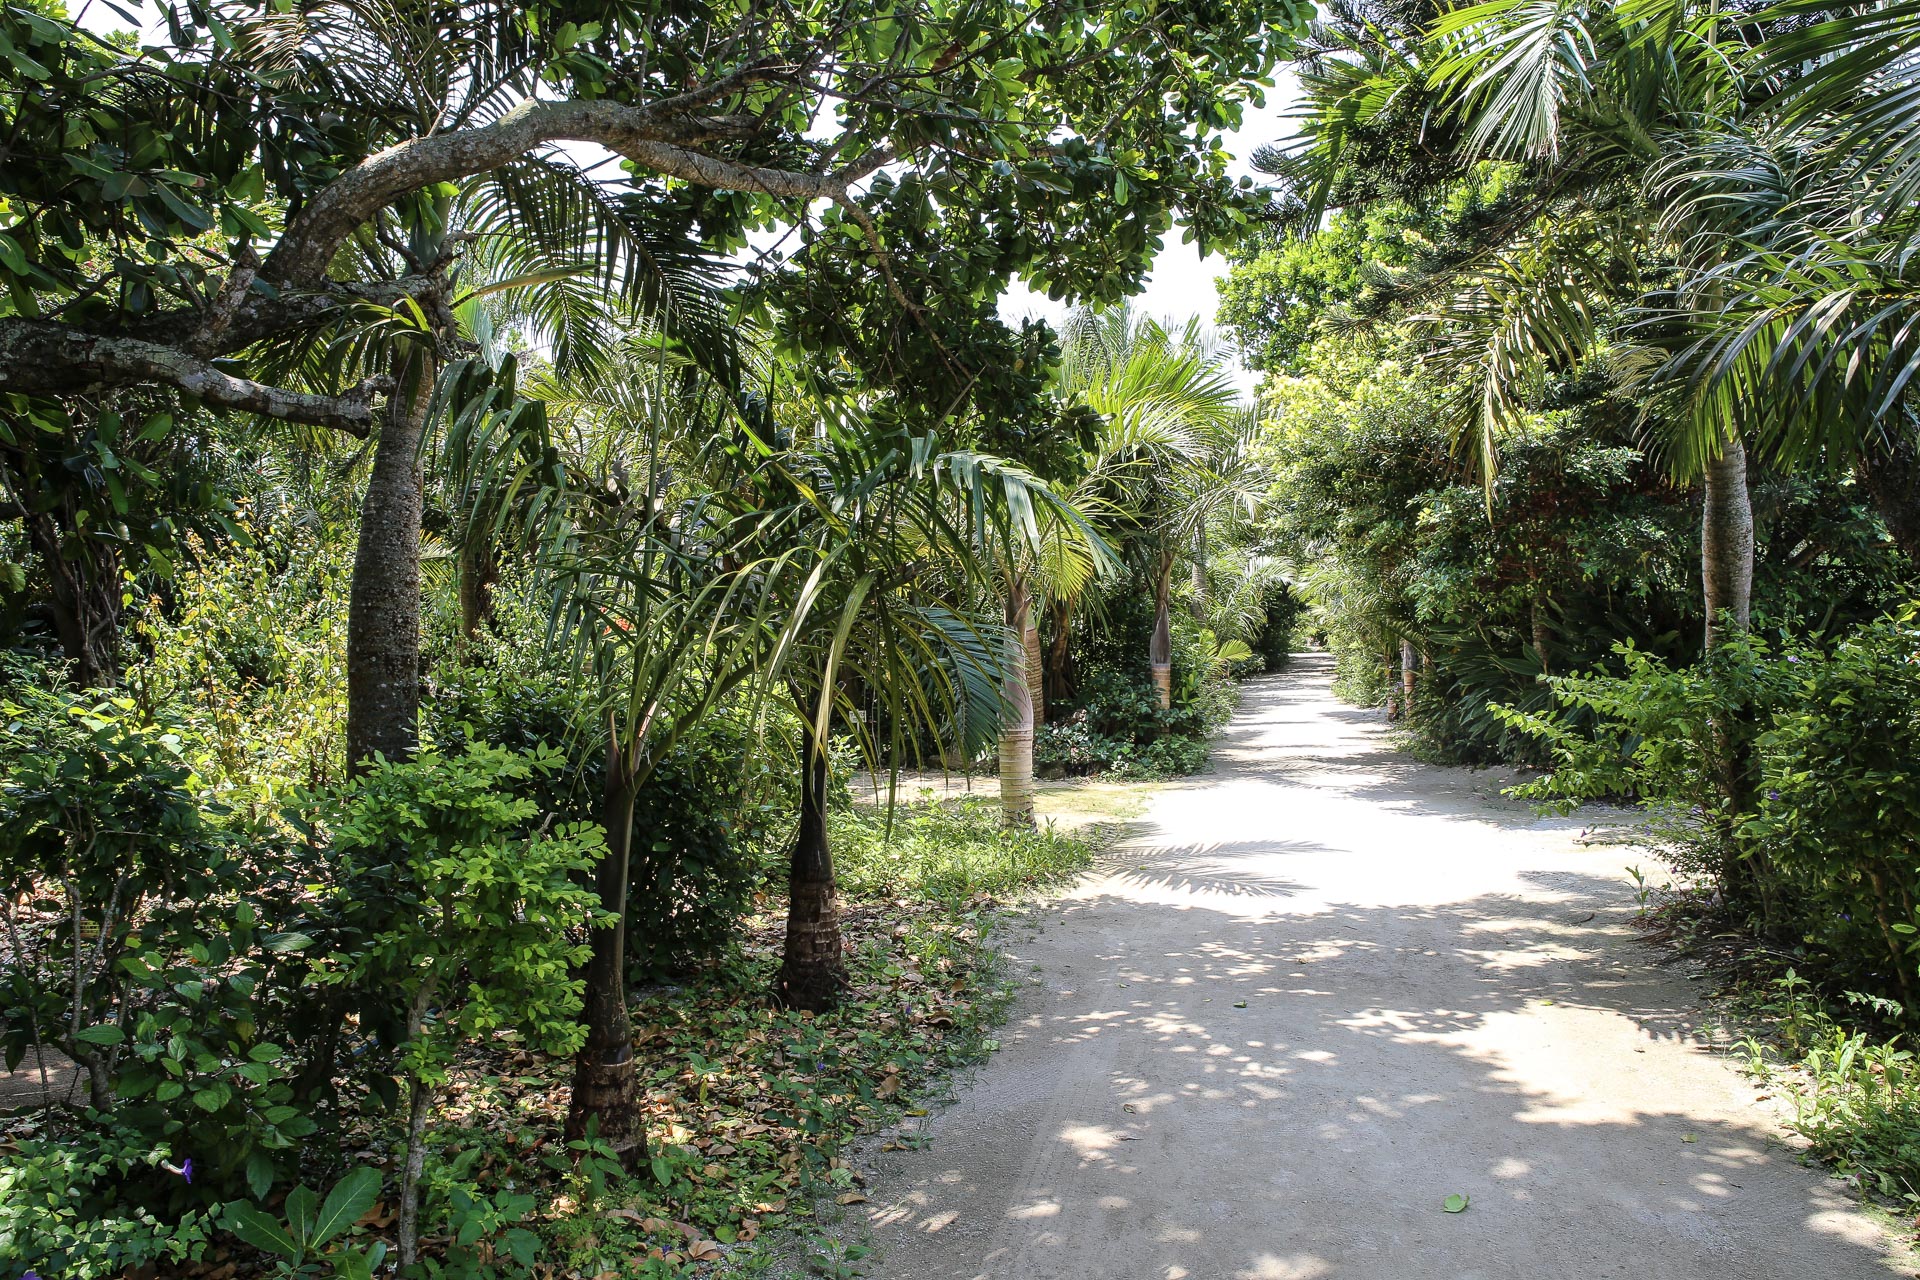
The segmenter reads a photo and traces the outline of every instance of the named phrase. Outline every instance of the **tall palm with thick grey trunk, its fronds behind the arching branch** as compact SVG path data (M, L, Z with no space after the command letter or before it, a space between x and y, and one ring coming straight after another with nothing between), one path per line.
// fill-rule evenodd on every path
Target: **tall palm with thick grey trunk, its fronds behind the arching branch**
M532 92L543 48L486 10L323 2L236 17L236 52L275 84L361 121L369 150L503 117ZM660 234L637 196L612 196L559 152L534 152L461 186L428 188L378 213L342 249L353 278L409 280L411 305L336 309L257 353L269 376L340 393L386 382L361 509L348 616L348 762L415 747L420 676L420 459L449 355L476 322L516 324L561 368L591 370L611 320L660 317L720 347L714 265ZM480 311L474 303L493 299ZM440 397L447 405L445 397ZM451 405L451 413L463 407ZM482 528L476 512L467 533ZM484 543L463 535L465 585L482 608Z

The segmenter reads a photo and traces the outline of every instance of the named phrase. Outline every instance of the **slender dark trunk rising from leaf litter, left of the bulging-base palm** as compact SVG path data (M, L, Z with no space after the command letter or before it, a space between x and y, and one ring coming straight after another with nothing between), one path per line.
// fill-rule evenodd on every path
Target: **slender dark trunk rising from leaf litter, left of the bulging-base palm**
M566 1107L566 1138L586 1136L588 1125L626 1163L647 1151L639 1126L639 1094L634 1079L634 1021L626 1007L626 887L634 860L634 762L618 737L607 743L607 781L601 791L601 823L607 852L595 871L601 908L612 919L588 933L586 1044L574 1055L574 1096Z

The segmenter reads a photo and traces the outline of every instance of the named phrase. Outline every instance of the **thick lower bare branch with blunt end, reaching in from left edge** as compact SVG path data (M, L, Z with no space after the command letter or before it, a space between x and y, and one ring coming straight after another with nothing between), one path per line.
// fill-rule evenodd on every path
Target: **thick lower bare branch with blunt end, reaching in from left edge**
M369 380L348 395L288 391L236 378L211 361L157 342L88 334L52 320L0 319L0 388L8 391L77 395L134 382L171 386L207 405L328 426L349 436L367 436L374 391L384 390L384 380Z

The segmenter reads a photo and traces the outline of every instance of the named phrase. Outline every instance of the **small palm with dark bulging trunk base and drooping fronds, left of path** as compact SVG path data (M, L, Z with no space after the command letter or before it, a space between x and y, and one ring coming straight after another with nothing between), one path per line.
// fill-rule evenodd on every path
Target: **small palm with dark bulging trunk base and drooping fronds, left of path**
M783 512L768 533L804 545L812 566L789 580L797 595L776 654L803 731L774 998L818 1011L845 984L826 827L835 722L852 727L876 770L881 760L897 770L914 752L916 729L939 733L954 720L975 733L991 727L1004 714L1002 689L1023 689L1020 651L996 620L947 601L977 585L981 549L1033 547L1039 516L1077 526L1077 512L1018 466L979 453L935 455L929 438L856 415L772 455L730 491L755 510ZM852 714L854 691L874 720Z

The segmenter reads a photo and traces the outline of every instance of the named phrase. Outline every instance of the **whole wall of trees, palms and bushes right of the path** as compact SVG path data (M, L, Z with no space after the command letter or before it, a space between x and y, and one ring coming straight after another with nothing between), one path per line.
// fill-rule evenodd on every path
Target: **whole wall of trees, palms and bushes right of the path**
M1899 2L1329 6L1221 307L1340 691L1649 810L1663 919L1905 1203L1916 44Z

